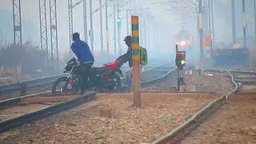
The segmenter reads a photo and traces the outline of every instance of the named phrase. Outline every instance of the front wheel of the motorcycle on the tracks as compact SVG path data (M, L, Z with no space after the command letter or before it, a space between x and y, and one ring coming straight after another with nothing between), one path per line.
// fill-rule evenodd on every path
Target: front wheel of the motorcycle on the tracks
M52 93L54 96L76 94L77 90L73 81L66 77L58 78L53 86Z

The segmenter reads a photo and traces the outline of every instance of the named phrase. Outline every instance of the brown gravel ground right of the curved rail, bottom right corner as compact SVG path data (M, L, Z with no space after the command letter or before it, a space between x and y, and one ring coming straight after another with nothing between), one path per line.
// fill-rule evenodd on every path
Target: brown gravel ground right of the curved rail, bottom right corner
M230 95L229 100L182 144L255 144L256 95Z

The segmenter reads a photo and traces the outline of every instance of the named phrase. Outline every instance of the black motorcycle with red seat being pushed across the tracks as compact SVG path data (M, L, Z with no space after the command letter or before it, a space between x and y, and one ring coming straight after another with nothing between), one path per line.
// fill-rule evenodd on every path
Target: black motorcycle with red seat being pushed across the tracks
M77 76L77 68L80 62L75 58L70 59L66 63L64 73L69 73L67 77L58 78L53 86L52 93L54 95L61 94L76 94L80 90L79 79ZM97 90L102 92L104 90L115 91L121 88L122 70L123 65L121 61L108 62L102 66L92 67L90 69L88 86L86 90ZM63 86L60 84L63 82ZM58 89L59 88L59 89Z

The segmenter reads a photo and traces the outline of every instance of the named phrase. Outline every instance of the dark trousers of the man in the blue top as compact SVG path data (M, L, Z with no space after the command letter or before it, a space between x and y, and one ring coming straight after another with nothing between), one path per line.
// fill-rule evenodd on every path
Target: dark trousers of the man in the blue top
M78 67L78 78L79 78L79 84L80 89L82 93L86 92L86 86L88 86L88 77L90 74L90 68L94 65L94 62L86 63L81 62L80 66Z

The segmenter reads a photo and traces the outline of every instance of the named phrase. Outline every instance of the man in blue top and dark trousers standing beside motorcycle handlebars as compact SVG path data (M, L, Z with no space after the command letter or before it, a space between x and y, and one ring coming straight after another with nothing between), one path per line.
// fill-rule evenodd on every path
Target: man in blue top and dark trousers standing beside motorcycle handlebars
M73 43L71 45L71 50L78 57L80 61L80 66L78 67L78 77L81 86L81 92L84 94L86 92L86 86L88 83L88 75L91 66L94 64L94 55L90 52L90 47L86 42L80 40L80 34L72 34Z

